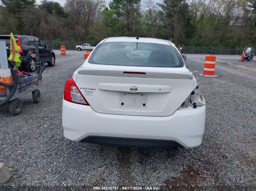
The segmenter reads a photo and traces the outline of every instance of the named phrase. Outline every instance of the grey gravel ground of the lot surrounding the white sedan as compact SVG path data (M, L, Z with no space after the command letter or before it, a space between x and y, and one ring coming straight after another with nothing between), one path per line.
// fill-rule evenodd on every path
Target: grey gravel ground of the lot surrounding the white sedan
M155 186L161 190L255 190L255 62L217 56L218 78L199 76L205 55L187 55L206 102L203 142L191 149L138 149L75 143L63 137L65 80L85 52L69 51L43 73L42 100L25 95L23 111L0 107L0 162L12 178L0 190L85 190L92 186ZM196 119L189 123L196 123ZM143 189L144 187L142 187Z

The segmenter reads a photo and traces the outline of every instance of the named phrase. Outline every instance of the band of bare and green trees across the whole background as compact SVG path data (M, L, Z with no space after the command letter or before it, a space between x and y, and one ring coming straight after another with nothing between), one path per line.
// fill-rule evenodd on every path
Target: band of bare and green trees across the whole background
M103 0L66 0L64 8L56 0L0 1L2 34L91 44L138 34L176 45L256 45L256 0L110 0L108 8Z

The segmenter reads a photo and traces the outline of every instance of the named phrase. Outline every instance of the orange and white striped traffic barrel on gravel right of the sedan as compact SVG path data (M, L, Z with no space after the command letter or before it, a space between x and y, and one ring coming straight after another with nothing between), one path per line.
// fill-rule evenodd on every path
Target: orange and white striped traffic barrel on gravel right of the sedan
M216 62L216 56L213 56L213 55L205 56L204 71L202 74L199 74L199 75L205 76L205 77L218 77L217 75L215 75L215 62Z

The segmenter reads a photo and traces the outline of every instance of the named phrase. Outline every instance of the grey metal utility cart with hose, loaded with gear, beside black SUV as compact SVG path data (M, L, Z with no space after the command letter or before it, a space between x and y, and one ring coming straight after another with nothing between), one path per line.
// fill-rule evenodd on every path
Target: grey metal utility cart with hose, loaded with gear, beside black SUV
M4 69L6 70L11 70L11 78L8 83L0 83L0 106L3 104L9 102L9 110L12 115L18 115L22 112L22 100L20 97L23 95L32 92L32 97L33 97L33 102L34 103L39 103L41 94L39 91L39 88L42 86L42 67L41 65L43 62L39 61L39 50L38 50L38 44L35 43L35 48L36 48L36 54L31 55L32 59L34 59L36 62L36 67L37 71L36 73L30 73L30 72L20 72L18 71L17 66L15 65L14 62L11 62L12 64L9 64L7 62L7 57L6 57L6 50L5 50L5 59L3 59L1 56L3 56L3 46L2 43L5 43L4 41L0 41L0 75L3 76L3 71ZM2 48L1 48L2 47ZM2 51L1 51L2 49ZM20 56L19 59L22 60L22 62L29 62L29 58L25 56ZM8 66L6 66L8 65ZM11 66L12 65L12 66ZM2 69L2 70L1 70ZM3 78L2 78L3 79ZM0 81L1 82L1 81ZM3 81L2 81L3 82Z

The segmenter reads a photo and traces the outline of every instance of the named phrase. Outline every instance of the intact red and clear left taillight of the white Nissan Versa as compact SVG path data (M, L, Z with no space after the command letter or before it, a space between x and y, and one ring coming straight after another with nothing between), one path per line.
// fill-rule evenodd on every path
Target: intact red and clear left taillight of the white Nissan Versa
M79 91L78 87L75 84L72 76L67 79L64 87L64 100L79 103L83 105L89 105L89 103L85 100L81 92Z

